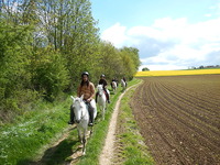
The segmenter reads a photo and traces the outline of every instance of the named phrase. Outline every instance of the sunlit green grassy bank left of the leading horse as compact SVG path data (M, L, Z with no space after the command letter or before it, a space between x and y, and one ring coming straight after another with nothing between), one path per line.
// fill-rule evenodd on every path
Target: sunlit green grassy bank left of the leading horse
M40 148L62 135L68 121L69 102L41 102L32 112L0 128L0 164L25 164Z

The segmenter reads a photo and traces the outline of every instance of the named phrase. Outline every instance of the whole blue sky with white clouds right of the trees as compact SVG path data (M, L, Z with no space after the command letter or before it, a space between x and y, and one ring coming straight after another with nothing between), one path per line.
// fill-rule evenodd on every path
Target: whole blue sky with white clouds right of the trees
M220 0L90 0L100 37L139 50L140 70L220 65Z

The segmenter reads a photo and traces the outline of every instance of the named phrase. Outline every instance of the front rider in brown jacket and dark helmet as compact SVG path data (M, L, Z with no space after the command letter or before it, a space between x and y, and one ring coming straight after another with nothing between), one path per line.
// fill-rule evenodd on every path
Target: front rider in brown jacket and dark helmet
M84 72L81 74L81 82L78 87L77 90L77 97L81 97L84 95L84 101L85 103L88 106L88 111L89 111L89 125L92 127L94 125L94 106L92 106L92 101L94 101L94 96L95 96L95 86L91 81L89 81L89 73ZM95 102L94 102L95 103ZM74 110L73 107L70 107L70 121L68 122L68 124L73 124L74 121Z

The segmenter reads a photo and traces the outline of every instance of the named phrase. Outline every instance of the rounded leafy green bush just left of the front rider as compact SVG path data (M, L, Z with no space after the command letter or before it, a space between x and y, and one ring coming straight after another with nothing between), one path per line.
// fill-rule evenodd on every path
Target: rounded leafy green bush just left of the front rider
M33 85L43 91L46 99L53 100L69 82L65 58L59 53L45 48L35 55L33 67Z

